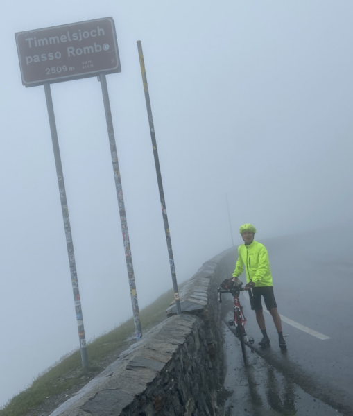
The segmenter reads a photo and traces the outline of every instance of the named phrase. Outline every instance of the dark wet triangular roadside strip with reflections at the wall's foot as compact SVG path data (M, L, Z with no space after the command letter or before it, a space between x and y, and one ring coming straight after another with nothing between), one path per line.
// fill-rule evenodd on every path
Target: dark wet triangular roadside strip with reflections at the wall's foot
M223 328L226 363L224 388L229 392L224 416L341 416L337 410L290 383L248 347L246 368L239 340L225 324Z

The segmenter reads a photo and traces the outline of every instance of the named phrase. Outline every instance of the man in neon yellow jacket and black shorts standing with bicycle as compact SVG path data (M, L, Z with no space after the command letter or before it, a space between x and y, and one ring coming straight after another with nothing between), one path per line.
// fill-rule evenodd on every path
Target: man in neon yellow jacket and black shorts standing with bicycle
M261 296L268 312L272 315L273 322L278 332L279 347L286 349L286 341L283 338L281 317L277 311L275 295L273 293L270 262L268 261L267 250L264 245L254 241L256 229L251 224L241 225L239 232L244 244L239 245L238 260L236 261L233 277L239 277L246 270L246 286L249 292L251 309L256 313L257 324L261 329L263 338L259 342L262 347L270 344L266 332L264 312L262 310Z

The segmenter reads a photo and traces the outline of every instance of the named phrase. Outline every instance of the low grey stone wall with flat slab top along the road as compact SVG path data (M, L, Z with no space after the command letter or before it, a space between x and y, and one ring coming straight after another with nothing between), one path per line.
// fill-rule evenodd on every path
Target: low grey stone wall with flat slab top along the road
M217 287L234 270L234 250L207 261L180 291L168 319L123 352L51 416L218 415L223 336Z

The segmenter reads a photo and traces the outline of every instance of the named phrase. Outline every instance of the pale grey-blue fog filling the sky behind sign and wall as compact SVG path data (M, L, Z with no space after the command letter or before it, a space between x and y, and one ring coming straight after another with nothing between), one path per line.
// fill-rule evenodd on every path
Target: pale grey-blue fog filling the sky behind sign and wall
M15 32L112 16L107 76L140 309L171 288L137 40L179 282L234 243L352 225L351 1L1 5L0 404L78 347L44 87ZM132 315L96 78L51 86L87 340Z

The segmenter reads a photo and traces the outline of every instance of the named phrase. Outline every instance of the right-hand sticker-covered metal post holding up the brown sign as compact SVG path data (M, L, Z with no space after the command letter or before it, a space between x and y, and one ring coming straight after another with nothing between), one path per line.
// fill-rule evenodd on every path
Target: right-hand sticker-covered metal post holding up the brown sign
M123 199L123 188L121 186L119 160L118 160L118 154L117 154L117 145L115 144L112 112L110 110L110 101L109 101L107 79L105 78L105 73L101 73L101 75L98 77L98 80L101 81L103 103L104 103L104 110L105 110L105 119L107 121L110 153L112 155L115 187L117 189L121 232L123 234L123 244L124 244L124 249L125 249L126 267L128 268L128 278L129 278L129 286L130 286L132 311L134 314L135 335L136 335L136 339L139 340L142 336L141 321L139 318L139 303L137 302L137 291L136 291L136 284L135 284L134 266L132 265L128 221L126 220L125 204L124 204L124 199Z

